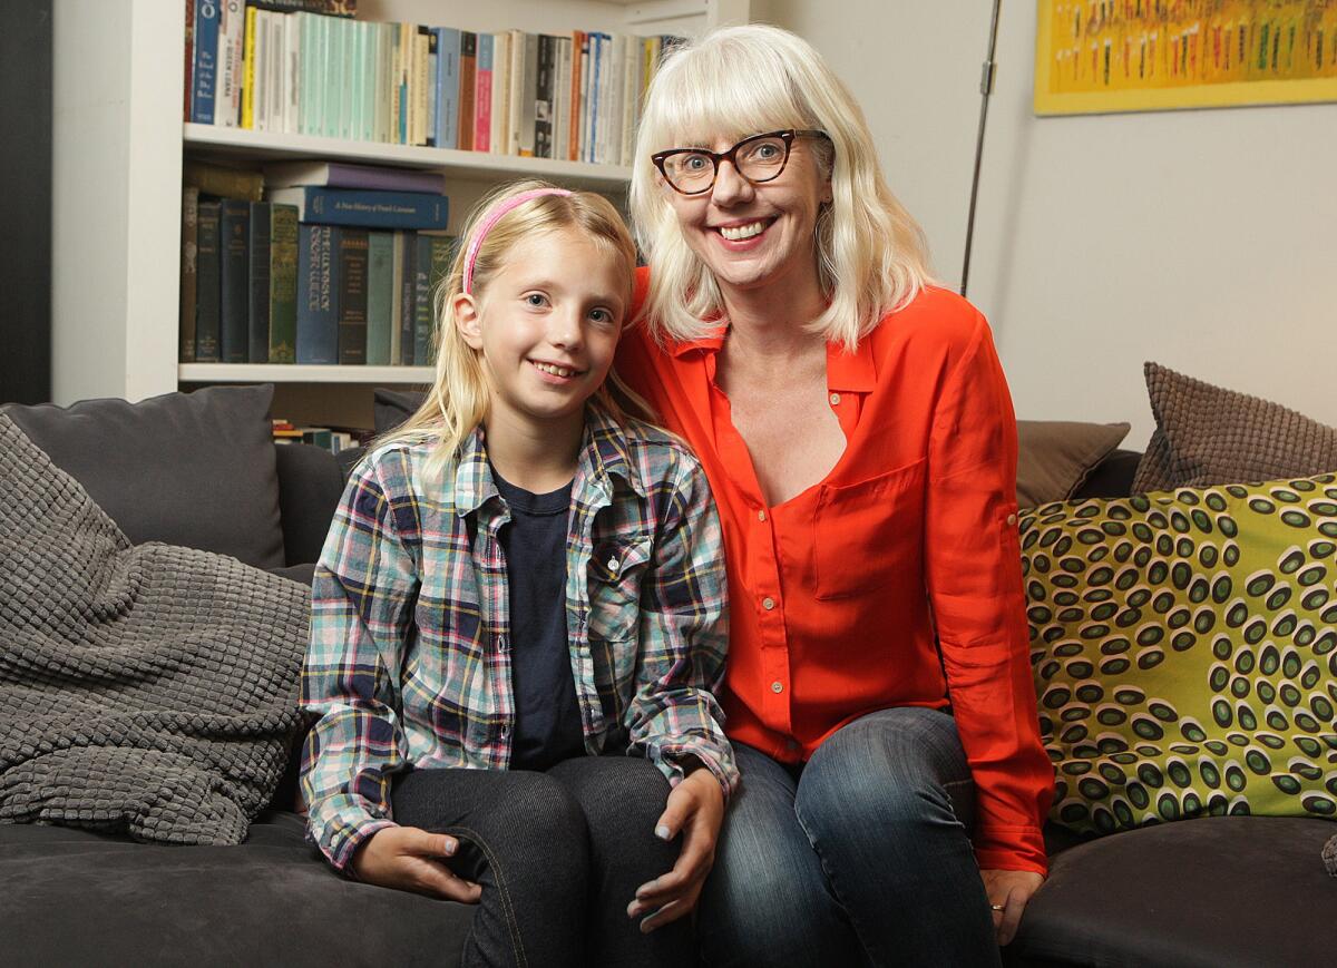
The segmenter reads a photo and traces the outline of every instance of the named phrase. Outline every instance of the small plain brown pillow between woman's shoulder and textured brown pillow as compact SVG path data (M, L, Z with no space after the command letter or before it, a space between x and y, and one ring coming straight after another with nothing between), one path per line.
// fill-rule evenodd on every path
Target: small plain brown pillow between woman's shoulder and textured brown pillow
M1127 435L1127 424L1016 421L1016 503L1035 508L1067 500Z

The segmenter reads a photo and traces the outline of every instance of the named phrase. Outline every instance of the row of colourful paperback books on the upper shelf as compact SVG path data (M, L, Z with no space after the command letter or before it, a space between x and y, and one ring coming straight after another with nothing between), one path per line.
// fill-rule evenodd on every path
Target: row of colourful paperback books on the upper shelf
M646 88L682 41L186 3L189 122L604 164L631 163Z

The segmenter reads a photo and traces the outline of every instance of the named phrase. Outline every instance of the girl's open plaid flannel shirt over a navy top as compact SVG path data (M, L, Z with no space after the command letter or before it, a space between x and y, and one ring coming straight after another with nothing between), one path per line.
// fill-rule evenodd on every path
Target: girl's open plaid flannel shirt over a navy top
M354 471L312 588L302 709L308 834L345 869L393 824L390 777L505 769L515 693L497 531L509 511L483 431L429 483L431 441ZM678 441L587 408L567 525L567 635L586 751L610 742L677 783L695 758L738 782L715 701L727 648L725 559L706 476Z

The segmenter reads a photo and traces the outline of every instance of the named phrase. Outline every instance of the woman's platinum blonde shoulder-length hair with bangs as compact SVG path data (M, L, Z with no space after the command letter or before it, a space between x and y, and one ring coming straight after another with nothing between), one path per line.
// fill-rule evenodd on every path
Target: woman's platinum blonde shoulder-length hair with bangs
M810 325L853 349L888 312L931 278L924 233L882 178L868 123L821 55L778 27L711 31L675 49L650 84L631 174L630 209L650 263L643 316L656 338L701 337L723 313L710 269L687 246L650 160L655 151L737 140L785 128L818 128L812 139L830 205L817 218L818 281L829 306Z

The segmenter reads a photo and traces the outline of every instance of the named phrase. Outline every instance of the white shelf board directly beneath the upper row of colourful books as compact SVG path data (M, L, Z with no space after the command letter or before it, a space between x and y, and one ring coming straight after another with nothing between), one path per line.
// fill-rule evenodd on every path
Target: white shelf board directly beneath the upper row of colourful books
M455 151L452 148L424 148L381 142L345 142L337 138L312 135L285 135L214 124L185 124L183 143L187 150L207 150L210 154L235 156L246 160L277 160L281 158L322 158L329 160L362 162L369 164L401 164L445 171L456 178L489 179L535 178L558 179L582 185L598 191L626 191L631 168L619 164L591 164L563 162L551 158L519 158L487 151Z

